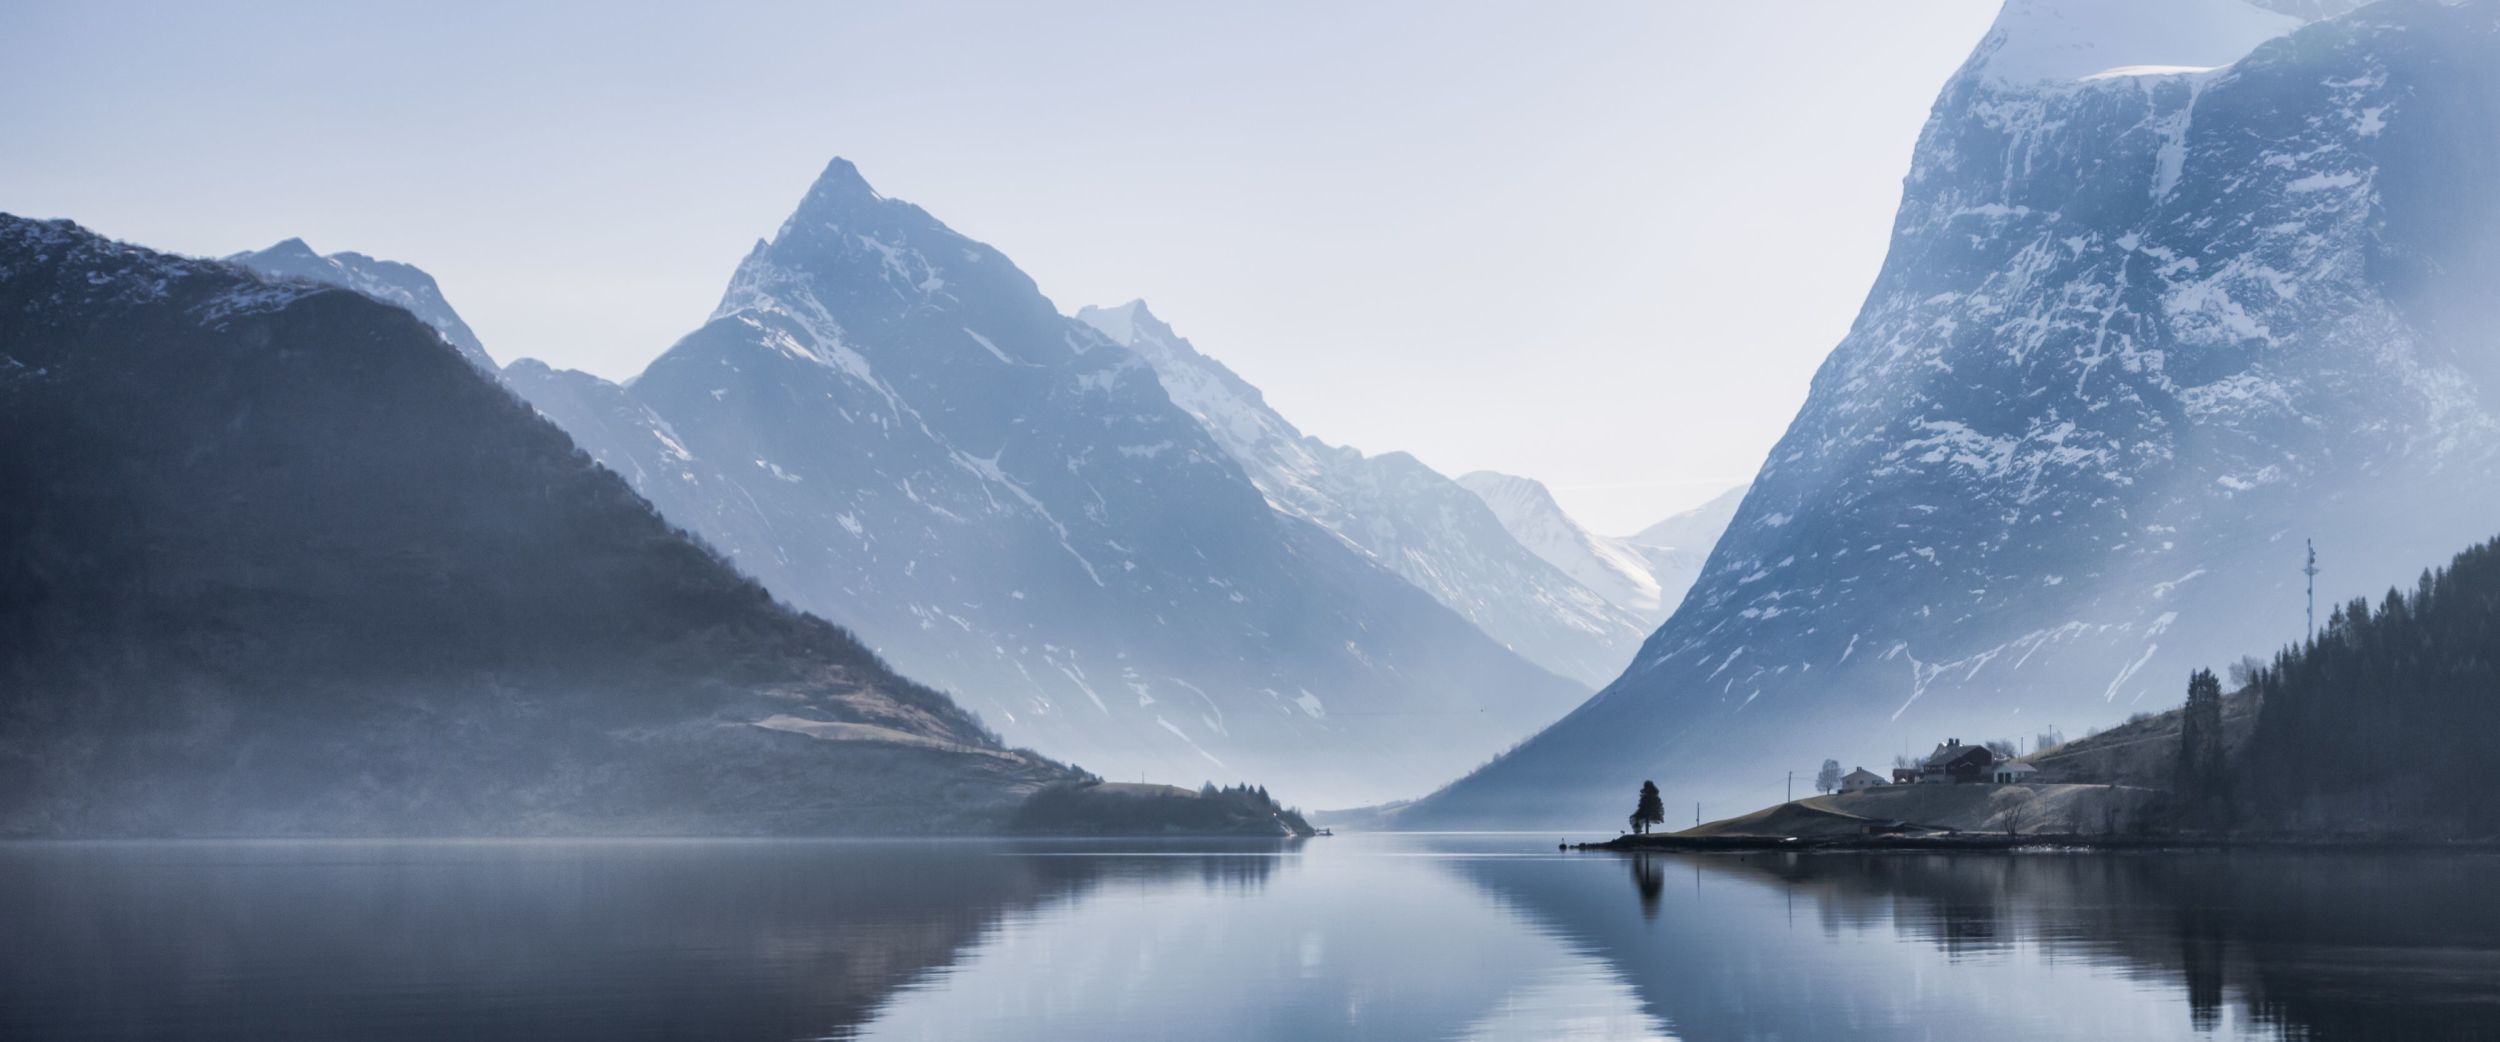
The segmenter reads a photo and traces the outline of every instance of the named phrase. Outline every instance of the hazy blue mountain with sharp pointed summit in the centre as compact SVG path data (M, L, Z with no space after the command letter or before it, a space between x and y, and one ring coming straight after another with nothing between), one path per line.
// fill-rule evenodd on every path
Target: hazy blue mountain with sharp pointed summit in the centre
M1270 510L1138 352L842 160L632 382L505 377L778 595L1112 777L1368 802L1580 697Z

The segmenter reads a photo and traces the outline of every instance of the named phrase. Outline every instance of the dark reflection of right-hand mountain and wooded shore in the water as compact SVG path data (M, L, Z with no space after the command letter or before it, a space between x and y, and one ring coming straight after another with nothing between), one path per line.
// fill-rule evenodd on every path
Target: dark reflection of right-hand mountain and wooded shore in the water
M1465 862L1695 1040L2500 1037L2490 855L1652 855ZM1625 915L1638 905L1640 915Z

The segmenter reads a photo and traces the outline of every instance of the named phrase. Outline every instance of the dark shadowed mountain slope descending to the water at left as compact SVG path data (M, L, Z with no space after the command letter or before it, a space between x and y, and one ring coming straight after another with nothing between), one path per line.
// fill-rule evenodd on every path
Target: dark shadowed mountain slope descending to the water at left
M410 312L0 215L0 835L1005 825L1005 750Z

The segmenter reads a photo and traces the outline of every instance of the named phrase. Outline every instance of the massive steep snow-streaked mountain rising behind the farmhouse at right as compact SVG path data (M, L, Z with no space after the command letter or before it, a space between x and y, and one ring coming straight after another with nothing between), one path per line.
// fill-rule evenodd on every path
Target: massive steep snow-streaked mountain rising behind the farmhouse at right
M1760 805L1822 757L2115 722L2300 635L2305 537L2368 590L2482 535L2495 137L2492 0L2008 2L1682 607L1408 820L1608 822L1642 777Z

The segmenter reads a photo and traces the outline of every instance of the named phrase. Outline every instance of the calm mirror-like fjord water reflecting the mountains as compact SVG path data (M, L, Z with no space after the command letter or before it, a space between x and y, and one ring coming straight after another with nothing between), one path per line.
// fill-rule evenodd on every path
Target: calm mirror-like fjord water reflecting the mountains
M2500 1037L2500 857L1552 842L0 845L0 1037Z

